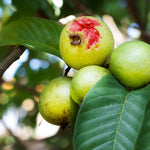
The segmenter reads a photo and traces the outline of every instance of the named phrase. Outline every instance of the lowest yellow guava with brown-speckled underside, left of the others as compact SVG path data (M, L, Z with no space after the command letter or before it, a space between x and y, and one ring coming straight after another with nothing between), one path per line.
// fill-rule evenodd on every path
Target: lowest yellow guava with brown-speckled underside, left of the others
M49 123L65 125L71 122L70 77L51 80L39 98L39 112Z

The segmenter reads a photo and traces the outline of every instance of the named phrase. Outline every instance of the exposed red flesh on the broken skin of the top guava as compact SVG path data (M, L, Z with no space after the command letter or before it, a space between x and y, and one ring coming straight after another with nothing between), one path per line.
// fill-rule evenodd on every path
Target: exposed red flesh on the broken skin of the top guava
M74 34L83 31L85 38L88 40L87 50L89 50L93 45L96 46L101 38L95 26L101 26L96 19L79 18L70 24L69 30Z

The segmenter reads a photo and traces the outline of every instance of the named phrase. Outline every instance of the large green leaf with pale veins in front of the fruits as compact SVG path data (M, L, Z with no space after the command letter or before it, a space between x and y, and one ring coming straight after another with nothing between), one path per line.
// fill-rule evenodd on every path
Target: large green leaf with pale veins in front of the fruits
M74 150L134 150L150 85L128 92L112 76L86 95L74 129Z

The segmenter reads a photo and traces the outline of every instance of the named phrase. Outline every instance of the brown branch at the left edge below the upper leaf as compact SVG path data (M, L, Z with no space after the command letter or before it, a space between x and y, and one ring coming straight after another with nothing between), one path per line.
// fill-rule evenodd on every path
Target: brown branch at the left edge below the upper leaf
M0 64L0 78L2 78L2 75L9 68L9 66L20 58L25 50L26 48L24 46L19 46L2 61Z

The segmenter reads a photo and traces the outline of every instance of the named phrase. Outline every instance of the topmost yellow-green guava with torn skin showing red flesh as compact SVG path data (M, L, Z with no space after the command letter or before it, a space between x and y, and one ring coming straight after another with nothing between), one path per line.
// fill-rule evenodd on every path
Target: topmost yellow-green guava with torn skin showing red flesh
M114 39L102 20L77 17L62 30L59 49L66 64L78 70L89 65L103 65L114 49Z

